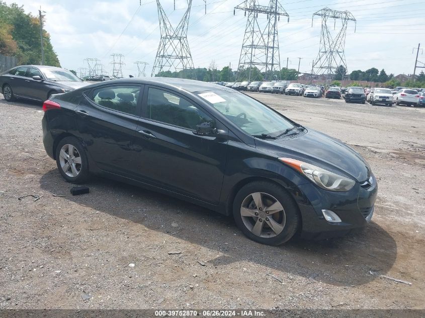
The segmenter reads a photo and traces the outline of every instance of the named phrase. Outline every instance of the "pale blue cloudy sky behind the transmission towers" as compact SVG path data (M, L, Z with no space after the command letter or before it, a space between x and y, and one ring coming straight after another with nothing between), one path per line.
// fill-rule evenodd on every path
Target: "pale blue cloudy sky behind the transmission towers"
M135 61L144 61L150 76L160 39L155 0L119 1L51 1L6 0L23 5L26 13L45 11L44 28L60 64L67 69L87 67L84 59L98 58L112 74L111 54L123 54L123 75L137 75ZM160 0L173 25L177 25L187 9L186 0ZM206 67L214 60L217 68L237 68L245 33L246 17L233 8L241 0L193 0L188 29L188 42L195 67ZM140 6L141 4L141 6ZM259 0L267 5L267 0ZM278 23L281 67L311 72L312 61L319 51L321 20L312 15L324 7L350 11L357 24L347 28L345 55L348 72L376 67L387 74L411 74L418 43L425 47L423 0L288 0L280 4L289 15ZM266 23L266 17L259 15ZM336 24L338 26L338 24ZM329 28L333 29L333 21ZM356 30L355 30L356 28ZM355 32L356 31L356 32ZM333 31L332 31L333 32ZM301 58L299 60L298 58ZM419 51L419 61L425 54ZM423 66L423 64L419 64ZM419 69L420 71L420 69ZM418 73L418 71L416 71Z

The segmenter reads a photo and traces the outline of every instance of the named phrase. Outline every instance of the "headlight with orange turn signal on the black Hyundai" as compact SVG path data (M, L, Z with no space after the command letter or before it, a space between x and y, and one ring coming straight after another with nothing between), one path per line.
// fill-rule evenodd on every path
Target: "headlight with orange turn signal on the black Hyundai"
M351 190L356 181L343 177L339 174L327 171L315 165L292 159L278 158L283 163L286 163L295 170L301 172L317 186L325 190L346 192Z

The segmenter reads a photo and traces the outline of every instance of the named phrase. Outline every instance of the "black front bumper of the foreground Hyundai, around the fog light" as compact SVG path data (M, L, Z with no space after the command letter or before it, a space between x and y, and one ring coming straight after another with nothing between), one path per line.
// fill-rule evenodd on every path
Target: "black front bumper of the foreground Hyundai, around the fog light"
M348 192L324 190L313 183L298 185L293 194L302 217L301 236L323 239L343 236L353 230L366 227L373 216L378 193L374 176L372 180L372 184L368 187L362 187L360 182L357 182ZM333 211L342 222L327 222L323 217L322 209Z

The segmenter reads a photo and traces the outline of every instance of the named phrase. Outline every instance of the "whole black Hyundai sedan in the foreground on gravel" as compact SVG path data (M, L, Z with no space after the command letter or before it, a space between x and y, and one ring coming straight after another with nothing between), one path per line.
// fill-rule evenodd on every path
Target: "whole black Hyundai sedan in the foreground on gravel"
M53 95L43 142L63 178L100 174L233 215L250 239L329 237L371 220L377 183L341 141L233 89L120 79Z

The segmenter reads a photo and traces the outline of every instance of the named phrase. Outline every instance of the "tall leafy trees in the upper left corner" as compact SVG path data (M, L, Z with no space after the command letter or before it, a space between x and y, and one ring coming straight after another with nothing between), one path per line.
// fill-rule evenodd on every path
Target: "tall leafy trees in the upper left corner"
M50 35L43 29L44 64L60 66ZM38 17L24 12L23 6L8 6L0 0L0 54L15 56L18 64L40 64L41 41Z

